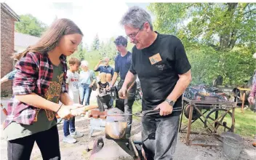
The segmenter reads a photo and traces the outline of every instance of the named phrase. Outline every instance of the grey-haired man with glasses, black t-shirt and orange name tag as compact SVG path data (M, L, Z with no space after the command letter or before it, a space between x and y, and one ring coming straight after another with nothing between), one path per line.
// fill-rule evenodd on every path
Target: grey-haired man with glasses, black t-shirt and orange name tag
M143 150L148 160L172 159L177 143L182 94L191 82L191 65L180 39L153 31L151 16L144 9L132 7L122 17L121 25L135 44L132 65L119 96L136 76L143 91L143 111L159 110L142 118Z

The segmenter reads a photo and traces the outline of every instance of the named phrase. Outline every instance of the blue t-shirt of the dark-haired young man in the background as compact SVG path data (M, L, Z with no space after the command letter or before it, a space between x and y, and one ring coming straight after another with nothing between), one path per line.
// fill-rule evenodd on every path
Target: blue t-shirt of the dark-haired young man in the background
M115 72L120 73L120 78L122 80L124 80L125 76L127 76L127 72L129 71L131 63L132 63L132 53L129 51L127 52L127 55L125 55L124 57L122 57L120 53L119 55L116 56Z

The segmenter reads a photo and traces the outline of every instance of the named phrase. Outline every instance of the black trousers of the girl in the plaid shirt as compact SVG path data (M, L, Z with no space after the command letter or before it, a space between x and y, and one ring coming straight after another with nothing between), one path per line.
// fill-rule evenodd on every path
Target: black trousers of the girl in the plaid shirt
M43 159L60 159L60 141L57 126L47 131L7 141L8 159L29 160L35 141Z

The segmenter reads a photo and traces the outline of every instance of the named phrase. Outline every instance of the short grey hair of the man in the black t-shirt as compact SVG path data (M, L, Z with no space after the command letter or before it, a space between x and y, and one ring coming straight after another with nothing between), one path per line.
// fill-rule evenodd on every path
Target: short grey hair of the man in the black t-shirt
M131 25L133 28L140 28L145 22L148 22L153 31L153 25L151 22L151 15L148 14L144 9L134 6L121 18L121 25Z

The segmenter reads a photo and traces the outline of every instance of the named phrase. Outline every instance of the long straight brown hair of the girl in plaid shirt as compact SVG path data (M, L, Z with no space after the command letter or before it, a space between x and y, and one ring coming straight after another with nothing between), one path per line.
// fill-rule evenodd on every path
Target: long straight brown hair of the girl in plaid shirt
M79 33L81 36L84 36L80 28L73 23L72 20L66 18L57 19L52 23L43 36L41 36L41 39L36 44L29 46L25 51L16 54L13 57L20 60L20 58L24 57L27 52L49 52L57 46L62 36L74 33Z

